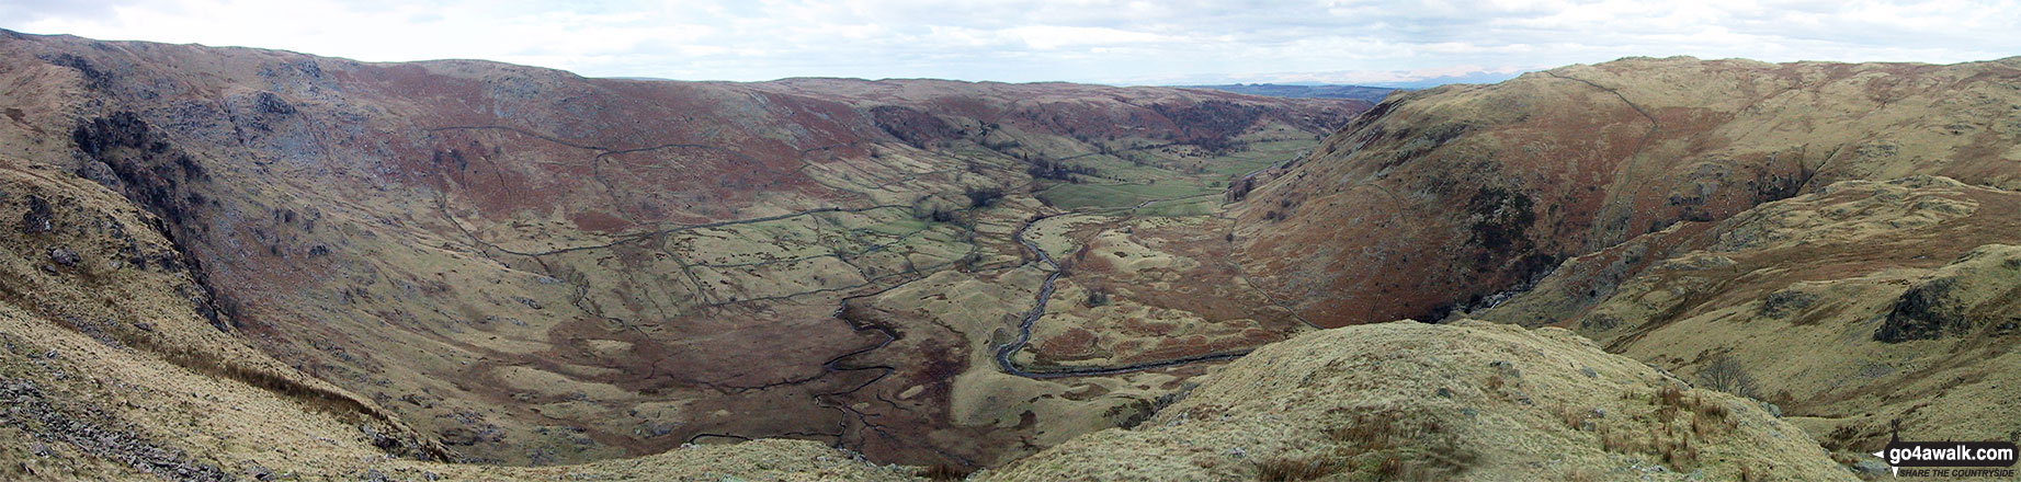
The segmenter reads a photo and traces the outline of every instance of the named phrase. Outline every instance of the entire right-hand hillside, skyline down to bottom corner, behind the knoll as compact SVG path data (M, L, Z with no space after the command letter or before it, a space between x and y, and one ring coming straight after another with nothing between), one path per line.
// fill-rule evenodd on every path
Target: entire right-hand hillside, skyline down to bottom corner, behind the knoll
M1841 462L2009 440L2021 61L1627 58L1378 105L1237 206L1318 325L1564 327Z

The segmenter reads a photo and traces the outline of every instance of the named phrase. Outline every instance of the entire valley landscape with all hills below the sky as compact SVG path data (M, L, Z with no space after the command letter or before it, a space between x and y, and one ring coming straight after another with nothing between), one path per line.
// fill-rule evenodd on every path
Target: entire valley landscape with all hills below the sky
M1896 421L2021 434L2021 58L1368 103L0 30L0 85L6 478L1847 480Z

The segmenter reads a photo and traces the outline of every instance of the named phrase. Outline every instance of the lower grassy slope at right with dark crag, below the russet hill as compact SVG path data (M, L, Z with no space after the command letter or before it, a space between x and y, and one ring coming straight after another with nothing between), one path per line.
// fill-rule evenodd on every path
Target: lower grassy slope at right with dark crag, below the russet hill
M1914 175L1839 182L1558 266L1467 313L1556 325L1776 403L1849 464L1900 434L2005 440L2021 395L2021 194Z

